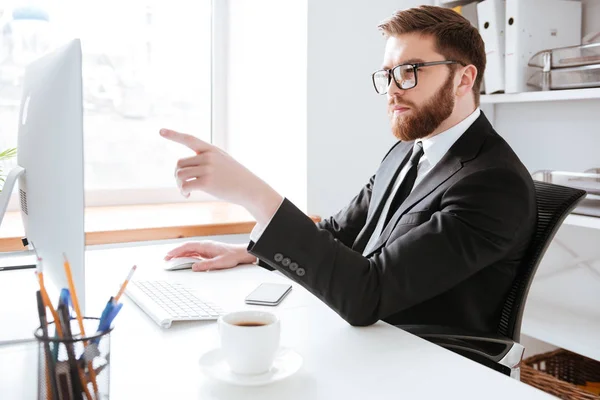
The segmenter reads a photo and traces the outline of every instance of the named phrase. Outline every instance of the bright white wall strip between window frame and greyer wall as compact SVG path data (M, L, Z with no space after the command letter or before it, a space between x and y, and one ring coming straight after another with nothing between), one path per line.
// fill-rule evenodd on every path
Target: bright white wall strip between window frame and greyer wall
M306 209L306 0L229 0L227 150Z

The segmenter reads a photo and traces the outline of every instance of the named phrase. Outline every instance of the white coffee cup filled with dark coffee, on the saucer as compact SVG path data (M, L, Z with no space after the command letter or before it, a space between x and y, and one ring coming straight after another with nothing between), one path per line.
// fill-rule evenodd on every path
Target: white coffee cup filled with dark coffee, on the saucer
M271 368L279 349L280 323L265 311L237 311L219 318L221 350L232 372L262 374Z

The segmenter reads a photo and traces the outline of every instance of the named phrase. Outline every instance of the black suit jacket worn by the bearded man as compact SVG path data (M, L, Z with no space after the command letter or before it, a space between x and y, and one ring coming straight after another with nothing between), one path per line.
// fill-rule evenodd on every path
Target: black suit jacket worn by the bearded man
M365 257L412 146L396 143L350 204L319 224L284 200L248 250L352 325L382 319L496 332L535 228L533 181L481 113L397 207Z

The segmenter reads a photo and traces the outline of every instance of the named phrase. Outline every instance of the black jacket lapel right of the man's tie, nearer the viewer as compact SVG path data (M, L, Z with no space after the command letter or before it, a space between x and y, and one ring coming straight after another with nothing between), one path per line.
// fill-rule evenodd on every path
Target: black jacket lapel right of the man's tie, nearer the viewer
M492 126L483 112L481 112L479 118L477 118L456 143L450 147L440 162L429 171L423 180L408 195L406 200L404 200L394 212L394 215L390 218L390 221L367 256L370 256L375 251L379 250L387 242L396 227L398 220L407 211L429 193L437 189L441 184L446 182L452 175L460 171L464 162L473 159L477 155L485 140L485 133L491 129Z

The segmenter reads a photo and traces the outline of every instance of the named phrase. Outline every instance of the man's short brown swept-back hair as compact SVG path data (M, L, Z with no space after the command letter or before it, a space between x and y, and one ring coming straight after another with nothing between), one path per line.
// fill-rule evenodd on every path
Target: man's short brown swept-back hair
M473 64L477 78L473 84L475 104L479 105L479 90L485 71L485 47L481 35L471 23L450 8L420 6L396 12L379 25L386 37L403 33L420 33L435 39L436 51L447 60ZM430 61L430 60L425 60ZM452 71L456 65L450 64Z

